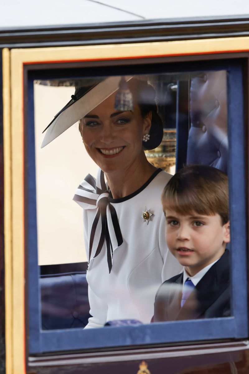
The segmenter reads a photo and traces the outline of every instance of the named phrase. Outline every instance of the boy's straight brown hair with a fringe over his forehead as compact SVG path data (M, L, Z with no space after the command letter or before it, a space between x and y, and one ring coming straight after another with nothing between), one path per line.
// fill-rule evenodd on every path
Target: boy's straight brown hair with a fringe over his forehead
M181 215L218 213L223 226L229 220L227 175L212 166L184 166L164 187L162 203Z

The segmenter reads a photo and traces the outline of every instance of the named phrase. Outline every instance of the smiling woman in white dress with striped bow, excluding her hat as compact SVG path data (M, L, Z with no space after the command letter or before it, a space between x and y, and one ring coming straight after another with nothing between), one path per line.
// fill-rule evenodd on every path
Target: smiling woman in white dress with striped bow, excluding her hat
M149 323L159 285L181 270L164 239L161 193L170 175L143 150L162 140L155 90L135 78L128 88L133 110L115 109L114 92L80 119L84 146L100 167L97 180L88 175L74 197L84 208L87 328L124 319Z

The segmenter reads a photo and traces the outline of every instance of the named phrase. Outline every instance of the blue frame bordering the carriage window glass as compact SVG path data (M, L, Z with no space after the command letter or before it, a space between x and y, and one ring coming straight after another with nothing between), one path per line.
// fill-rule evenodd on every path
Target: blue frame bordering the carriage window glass
M174 64L175 66L175 64ZM179 66L181 68L179 68ZM134 346L181 341L201 341L248 337L247 305L247 233L245 187L245 129L243 111L242 61L202 61L179 63L175 71L227 70L228 82L228 138L229 184L231 218L231 264L233 317L177 322L161 322L153 325L134 325L100 329L70 329L42 331L39 312L39 288L37 266L37 228L35 202L35 149L34 149L34 95L31 74L28 80L27 142L26 149L26 253L28 254L28 315L29 354L43 352L97 349L117 346ZM150 68L150 70L153 70ZM164 65L162 72L174 71ZM127 69L128 73L128 69ZM150 73L154 73L151 72ZM157 70L157 73L161 71ZM130 74L130 71L129 71ZM49 79L49 78L47 78ZM238 110L239 108L239 110ZM31 281L32 280L32 281ZM99 343L101 342L101 344Z

